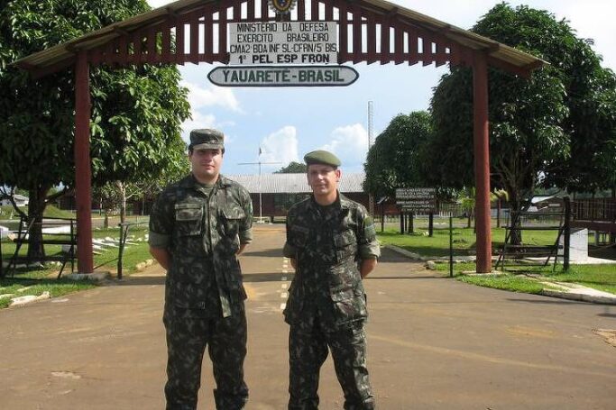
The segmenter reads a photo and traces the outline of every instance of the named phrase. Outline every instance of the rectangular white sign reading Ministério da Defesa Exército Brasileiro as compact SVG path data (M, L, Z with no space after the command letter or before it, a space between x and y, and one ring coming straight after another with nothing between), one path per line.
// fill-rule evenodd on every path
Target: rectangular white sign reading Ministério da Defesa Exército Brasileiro
M336 22L229 23L229 64L337 64Z

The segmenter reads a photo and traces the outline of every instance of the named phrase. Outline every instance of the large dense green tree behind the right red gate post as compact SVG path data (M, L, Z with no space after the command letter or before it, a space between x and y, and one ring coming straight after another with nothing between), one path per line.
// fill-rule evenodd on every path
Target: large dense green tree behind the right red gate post
M496 5L473 27L473 32L550 63L534 71L529 79L497 69L489 71L492 186L504 188L513 209L520 210L529 205L524 201L532 196L535 187L555 183L566 187L573 181L578 172L575 164L583 158L583 150L575 141L590 138L590 150L598 153L606 140L613 139L613 73L599 66L601 58L591 49L590 41L575 37L565 21L556 21L546 11ZM602 132L591 132L600 115L587 113L593 106L604 109ZM472 185L470 69L453 68L441 78L431 109L435 138L428 150L439 154L431 168L443 183L455 187ZM612 169L611 175L615 171ZM593 172L601 171L595 167Z

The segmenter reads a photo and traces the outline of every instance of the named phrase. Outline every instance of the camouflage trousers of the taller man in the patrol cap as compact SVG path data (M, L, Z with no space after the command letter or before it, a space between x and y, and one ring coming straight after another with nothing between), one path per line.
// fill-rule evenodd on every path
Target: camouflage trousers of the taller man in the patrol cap
M246 315L234 309L232 316L203 317L198 309L175 308L165 312L167 332L167 410L197 408L201 364L206 347L212 360L216 409L243 409L248 401L244 382Z

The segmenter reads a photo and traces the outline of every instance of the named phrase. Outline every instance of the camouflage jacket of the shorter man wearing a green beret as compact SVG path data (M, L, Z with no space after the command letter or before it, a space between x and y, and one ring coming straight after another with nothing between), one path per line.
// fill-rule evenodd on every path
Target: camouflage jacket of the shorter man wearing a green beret
M317 205L313 196L287 215L284 255L297 260L287 323L312 322L337 329L363 321L368 313L359 267L380 256L372 218L363 205L338 194L334 205Z

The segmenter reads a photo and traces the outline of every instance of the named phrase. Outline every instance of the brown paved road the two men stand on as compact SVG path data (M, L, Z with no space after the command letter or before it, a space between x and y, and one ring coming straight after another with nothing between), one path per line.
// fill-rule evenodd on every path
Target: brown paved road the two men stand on
M242 257L248 409L286 408L280 308L292 273L283 241L280 227L259 227ZM0 311L0 408L164 408L163 275L155 266ZM369 369L382 410L615 408L616 348L607 342L614 306L473 287L387 250L365 287ZM212 388L206 359L200 409L214 408ZM330 359L319 393L323 410L342 408Z

